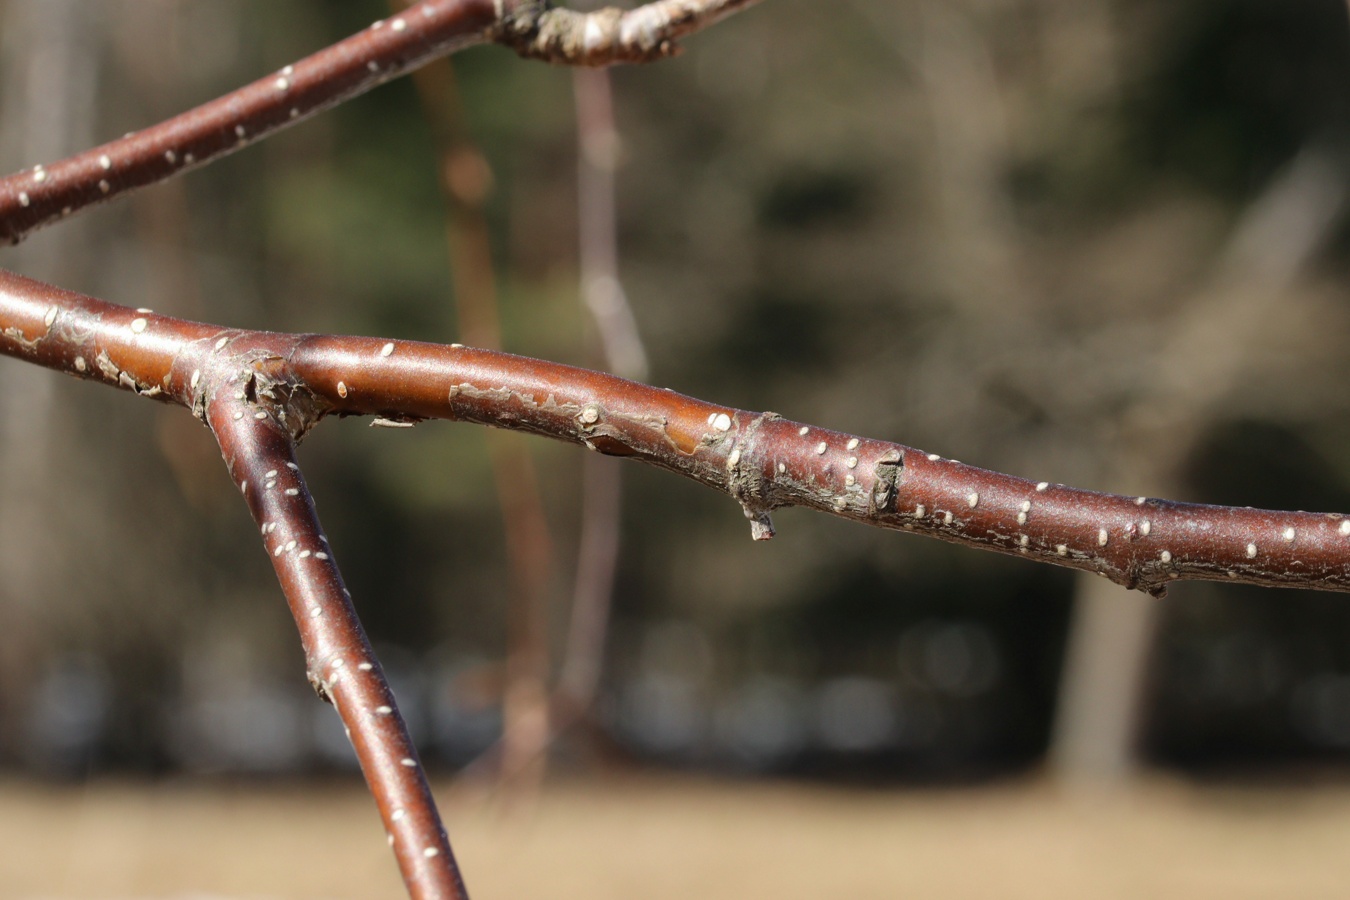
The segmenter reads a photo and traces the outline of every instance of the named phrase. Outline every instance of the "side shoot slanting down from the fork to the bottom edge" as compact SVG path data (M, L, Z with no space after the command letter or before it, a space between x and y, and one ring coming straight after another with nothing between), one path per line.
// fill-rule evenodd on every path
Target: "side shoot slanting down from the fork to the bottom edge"
M286 422L259 402L256 372L231 362L217 358L198 381L205 418L277 569L309 683L342 716L410 896L467 897L417 750L319 525Z

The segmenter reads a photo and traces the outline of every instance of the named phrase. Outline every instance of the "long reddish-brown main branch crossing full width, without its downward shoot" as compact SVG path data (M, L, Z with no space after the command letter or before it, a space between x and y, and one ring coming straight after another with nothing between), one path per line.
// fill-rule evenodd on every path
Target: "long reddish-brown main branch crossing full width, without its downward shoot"
M1119 497L1030 482L509 354L188 322L0 273L0 354L178 402L232 383L296 439L321 417L446 418L629 456L730 494L757 538L806 506L1098 572L1161 595L1174 580L1350 591L1350 518ZM92 362L93 360L93 362Z

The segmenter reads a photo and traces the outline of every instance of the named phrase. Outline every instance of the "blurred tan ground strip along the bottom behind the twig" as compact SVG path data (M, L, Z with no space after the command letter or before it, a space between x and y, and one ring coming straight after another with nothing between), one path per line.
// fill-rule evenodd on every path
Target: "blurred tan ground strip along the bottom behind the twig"
M502 815L446 785L494 897L1346 897L1350 787L944 791L606 779ZM401 897L359 785L0 783L0 897Z

